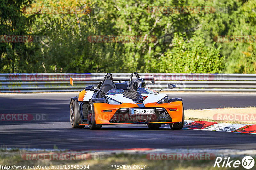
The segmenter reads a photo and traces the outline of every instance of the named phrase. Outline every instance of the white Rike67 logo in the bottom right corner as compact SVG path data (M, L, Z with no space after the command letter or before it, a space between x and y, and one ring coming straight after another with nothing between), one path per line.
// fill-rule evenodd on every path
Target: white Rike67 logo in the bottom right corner
M254 159L251 156L245 156L242 161L240 160L230 160L230 157L217 157L214 163L214 168L217 166L218 168L222 167L222 168L237 168L239 166L243 166L245 169L251 169L254 166Z

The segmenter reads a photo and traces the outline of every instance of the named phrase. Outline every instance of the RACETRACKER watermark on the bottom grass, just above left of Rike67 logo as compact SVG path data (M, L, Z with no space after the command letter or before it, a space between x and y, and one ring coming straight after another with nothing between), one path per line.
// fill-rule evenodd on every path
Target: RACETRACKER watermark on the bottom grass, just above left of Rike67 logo
M148 160L214 160L214 153L148 153Z

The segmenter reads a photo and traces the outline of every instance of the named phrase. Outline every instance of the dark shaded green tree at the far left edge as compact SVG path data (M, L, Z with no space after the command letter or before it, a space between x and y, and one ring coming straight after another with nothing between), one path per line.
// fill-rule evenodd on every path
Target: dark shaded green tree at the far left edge
M1 0L0 1L0 34L29 35L29 26L34 22L34 15L25 16L22 9L29 7L32 0ZM3 37L2 37L3 38ZM35 72L38 64L35 57L37 47L33 43L1 42L0 72Z

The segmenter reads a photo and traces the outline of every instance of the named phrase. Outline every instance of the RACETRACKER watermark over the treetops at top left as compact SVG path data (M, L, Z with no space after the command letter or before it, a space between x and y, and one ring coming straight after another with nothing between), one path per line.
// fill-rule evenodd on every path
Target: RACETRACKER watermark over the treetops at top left
M88 14L92 10L89 6L85 7L67 7L67 6L61 6L61 7L25 7L22 9L22 12L25 14Z

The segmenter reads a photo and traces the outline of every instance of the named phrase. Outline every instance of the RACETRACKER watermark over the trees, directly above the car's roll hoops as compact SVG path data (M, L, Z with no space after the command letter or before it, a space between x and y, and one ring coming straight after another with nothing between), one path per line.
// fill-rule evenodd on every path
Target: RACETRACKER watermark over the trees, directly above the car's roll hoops
M157 37L154 35L90 35L87 40L90 43L154 43Z

